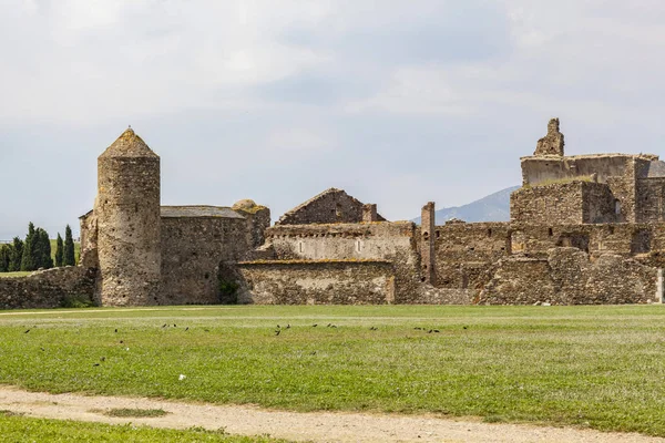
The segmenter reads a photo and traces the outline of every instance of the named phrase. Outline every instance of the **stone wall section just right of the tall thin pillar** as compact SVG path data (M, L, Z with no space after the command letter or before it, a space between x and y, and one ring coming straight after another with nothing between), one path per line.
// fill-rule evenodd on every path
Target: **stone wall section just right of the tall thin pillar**
M437 288L471 290L473 297L489 281L494 264L510 254L508 223L449 223L437 226L434 236Z

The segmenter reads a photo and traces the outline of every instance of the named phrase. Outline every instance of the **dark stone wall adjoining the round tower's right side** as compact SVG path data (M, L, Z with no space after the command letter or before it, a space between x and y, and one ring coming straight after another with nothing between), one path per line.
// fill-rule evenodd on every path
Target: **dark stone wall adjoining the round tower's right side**
M252 246L243 218L162 217L162 293L166 305L219 303L221 262Z

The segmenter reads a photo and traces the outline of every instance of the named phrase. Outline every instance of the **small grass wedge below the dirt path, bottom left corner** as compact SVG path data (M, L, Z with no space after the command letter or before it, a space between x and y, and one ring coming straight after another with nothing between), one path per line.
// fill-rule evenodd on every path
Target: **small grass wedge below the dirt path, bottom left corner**
M225 435L223 431L198 429L177 431L134 425L110 425L74 421L29 419L0 411L0 435L3 442L217 442L279 443L269 437Z

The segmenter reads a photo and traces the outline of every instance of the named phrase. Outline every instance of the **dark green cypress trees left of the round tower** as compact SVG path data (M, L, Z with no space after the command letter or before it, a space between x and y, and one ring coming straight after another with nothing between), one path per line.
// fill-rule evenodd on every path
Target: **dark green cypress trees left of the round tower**
M76 265L74 239L69 225L64 229L64 241L58 233L55 261L51 257L49 233L35 228L32 222L28 225L24 240L14 237L12 243L0 246L0 272L32 271L40 268L50 269L53 266L74 265Z

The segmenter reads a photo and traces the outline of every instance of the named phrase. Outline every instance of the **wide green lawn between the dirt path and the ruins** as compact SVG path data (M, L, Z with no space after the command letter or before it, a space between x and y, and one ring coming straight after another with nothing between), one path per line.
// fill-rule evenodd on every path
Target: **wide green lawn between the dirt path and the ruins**
M30 390L665 436L663 306L4 311L0 356Z

